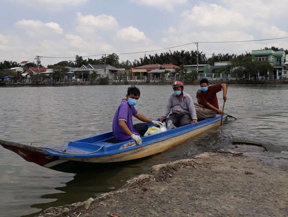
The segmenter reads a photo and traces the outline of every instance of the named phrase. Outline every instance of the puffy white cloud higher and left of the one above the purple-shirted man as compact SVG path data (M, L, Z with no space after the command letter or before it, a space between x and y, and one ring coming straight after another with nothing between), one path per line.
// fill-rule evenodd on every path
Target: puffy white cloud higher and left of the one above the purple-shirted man
M101 28L102 30L110 30L118 27L118 23L115 17L111 15L85 15L77 12L77 21L82 28L85 26Z

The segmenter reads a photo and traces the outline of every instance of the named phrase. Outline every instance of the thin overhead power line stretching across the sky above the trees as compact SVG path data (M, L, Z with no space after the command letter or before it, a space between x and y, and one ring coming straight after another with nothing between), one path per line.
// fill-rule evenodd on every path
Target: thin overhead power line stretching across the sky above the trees
M268 39L257 39L257 40L243 40L243 41L198 41L198 42L190 42L187 44L181 44L173 47L167 47L167 48L161 48L161 49L155 49L155 50L146 50L146 51L139 51L139 52L131 52L131 53L116 53L116 55L127 55L127 54L139 54L139 53L148 53L148 52L153 52L153 51L160 51L160 50L167 50L171 48L176 48L176 47L183 47L186 45L190 44L195 44L195 43L242 43L242 42L253 42L253 41L269 41L269 40L279 40L279 39L286 39L288 37L281 37L281 38L268 38ZM94 54L94 55L88 55L88 56L82 56L82 57L94 57L94 56L103 56L103 55L109 55L109 54ZM73 57L48 57L48 56L42 56L42 58L52 58L52 59L69 59L69 58L74 58Z

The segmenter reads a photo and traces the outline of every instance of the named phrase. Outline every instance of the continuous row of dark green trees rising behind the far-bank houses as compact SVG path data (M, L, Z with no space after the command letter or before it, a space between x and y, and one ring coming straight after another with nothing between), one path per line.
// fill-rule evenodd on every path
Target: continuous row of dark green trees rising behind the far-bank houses
M274 50L274 51L285 51L286 54L288 54L288 50L284 50L283 48L276 48L276 47L265 47L263 50ZM138 60L135 59L133 62L130 62L129 60L126 61L119 61L119 56L115 53L109 54L109 55L103 55L99 59L83 59L83 57L76 55L74 61L61 61L53 65L48 65L48 68L54 68L56 70L56 74L59 73L59 71L63 71L63 67L72 67L72 68L78 68L82 65L101 65L101 64L109 64L111 66L117 67L117 68L125 68L127 70L148 65L148 64L174 64L177 66L180 66L181 72L185 71L183 66L185 65L195 65L197 64L197 56L198 56L198 64L209 64L214 65L215 62L223 62L223 61L229 61L231 64L224 68L219 69L216 71L216 73L223 73L223 71L227 70L233 70L237 71L238 73L247 74L252 73L253 75L257 70L265 71L265 70L273 70L273 67L271 69L271 65L267 62L256 62L252 61L251 54L245 53L245 54L212 54L212 57L207 58L206 54L204 52L198 52L197 51L171 51L161 53L161 54L154 54L154 55L144 55L144 57L140 57ZM269 66L270 65L270 66ZM0 76L7 74L8 69L13 67L19 67L20 65L17 62L14 61L3 61L0 62ZM37 67L35 63L28 63L24 65L25 68L29 67ZM43 67L40 65L40 67ZM244 70L245 69L245 70Z

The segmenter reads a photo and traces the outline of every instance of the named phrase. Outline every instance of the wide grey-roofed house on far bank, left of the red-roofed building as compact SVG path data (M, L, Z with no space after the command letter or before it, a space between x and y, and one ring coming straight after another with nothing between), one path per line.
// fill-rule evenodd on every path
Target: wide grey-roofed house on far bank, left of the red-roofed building
M81 79L90 79L90 75L92 73L97 73L99 77L109 79L114 79L115 76L119 76L121 73L130 72L130 70L119 69L109 64L102 65L91 65L88 64L86 66L82 65L79 69L76 69L75 72L78 73L79 78ZM126 73L127 73L126 72Z

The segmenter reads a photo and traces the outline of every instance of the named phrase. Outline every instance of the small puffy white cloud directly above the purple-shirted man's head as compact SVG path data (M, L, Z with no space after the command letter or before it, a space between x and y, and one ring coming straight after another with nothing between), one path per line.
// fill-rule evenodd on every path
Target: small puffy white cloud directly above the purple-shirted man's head
M118 30L117 37L127 41L144 41L146 39L144 32L133 26Z

